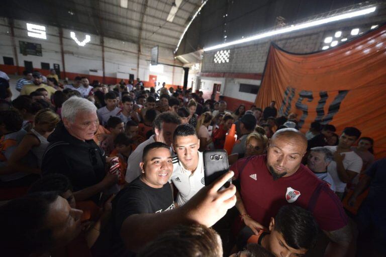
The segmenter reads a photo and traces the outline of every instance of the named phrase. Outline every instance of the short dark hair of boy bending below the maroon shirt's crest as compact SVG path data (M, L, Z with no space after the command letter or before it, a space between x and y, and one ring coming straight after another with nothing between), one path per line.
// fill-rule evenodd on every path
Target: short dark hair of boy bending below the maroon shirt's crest
M310 249L318 236L318 225L310 211L297 205L282 206L275 216L274 230L280 232L289 247Z

